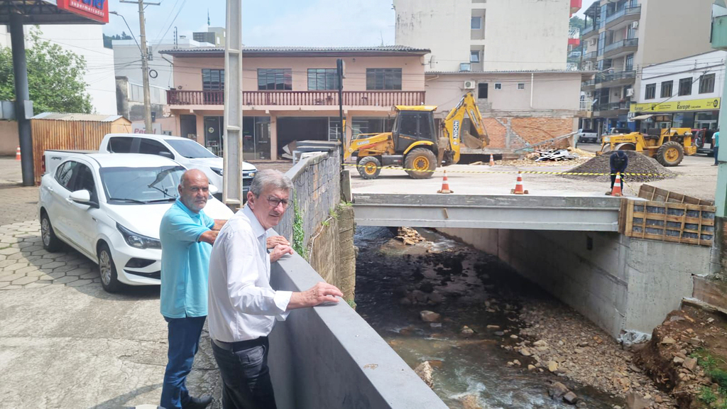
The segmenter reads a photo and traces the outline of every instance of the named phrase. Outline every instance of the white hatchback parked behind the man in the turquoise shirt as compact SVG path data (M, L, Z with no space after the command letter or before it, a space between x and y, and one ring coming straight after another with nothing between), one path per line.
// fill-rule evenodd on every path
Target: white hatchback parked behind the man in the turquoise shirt
M185 167L163 156L72 154L41 179L39 214L43 247L65 242L99 264L108 292L126 285L158 285L159 225L177 199ZM214 193L214 187L210 188ZM204 213L233 213L210 197Z

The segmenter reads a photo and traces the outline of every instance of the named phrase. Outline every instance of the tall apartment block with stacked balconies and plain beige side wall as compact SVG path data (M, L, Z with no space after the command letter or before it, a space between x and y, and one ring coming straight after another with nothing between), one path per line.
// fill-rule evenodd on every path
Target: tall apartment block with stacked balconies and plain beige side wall
M598 71L581 90L592 101L583 127L631 127L627 114L642 92L642 69L710 51L712 0L600 0L585 11L583 60Z

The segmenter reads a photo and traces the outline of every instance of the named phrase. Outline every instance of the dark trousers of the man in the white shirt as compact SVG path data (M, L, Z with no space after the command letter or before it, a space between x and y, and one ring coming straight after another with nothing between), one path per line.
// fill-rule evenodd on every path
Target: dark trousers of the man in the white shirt
M222 375L222 408L276 409L268 370L268 338L240 341L223 349L212 341Z

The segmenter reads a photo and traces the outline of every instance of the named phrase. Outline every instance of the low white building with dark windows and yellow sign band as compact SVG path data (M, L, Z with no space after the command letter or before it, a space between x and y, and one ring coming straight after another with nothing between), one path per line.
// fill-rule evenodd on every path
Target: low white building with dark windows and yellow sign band
M637 130L667 127L654 119L671 114L673 127L716 130L725 82L727 52L699 55L648 65L641 74L638 100L630 106Z

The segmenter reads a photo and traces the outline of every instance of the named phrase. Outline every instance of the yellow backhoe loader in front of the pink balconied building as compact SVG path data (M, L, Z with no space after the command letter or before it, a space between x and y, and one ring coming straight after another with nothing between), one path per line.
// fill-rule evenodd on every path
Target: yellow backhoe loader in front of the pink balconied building
M403 167L411 178L425 179L431 178L437 167L459 162L462 143L473 149L481 149L489 144L482 115L472 92L467 92L443 119L440 132L436 132L434 126L436 108L395 106L393 130L358 135L345 149L344 159L355 155L356 168L364 179L375 179L382 167L390 166ZM465 115L470 118L475 136L463 129ZM443 140L440 142L438 137L446 140L446 143Z

